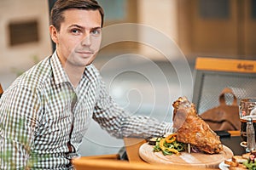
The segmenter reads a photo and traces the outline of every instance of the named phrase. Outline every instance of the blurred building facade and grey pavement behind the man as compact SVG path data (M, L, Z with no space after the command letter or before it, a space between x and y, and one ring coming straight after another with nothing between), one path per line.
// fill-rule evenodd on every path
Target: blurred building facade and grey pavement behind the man
M48 27L53 3L54 0L0 1L3 89L52 54ZM107 45L102 46L94 63L102 72L109 93L132 115L172 122L172 101L182 95L192 98L190 80L197 57L255 59L256 0L99 0L99 3L105 9L107 32L108 28L113 29L111 26L123 26L114 29L123 31L126 37L135 37L131 41L129 38L114 41L111 37L119 36L116 30L105 34ZM131 31L125 23L139 26ZM142 26L146 27L141 29ZM157 32L160 40L150 32ZM157 47L152 47L154 41ZM163 52L165 49L169 50ZM168 57L172 51L179 51L178 56ZM190 88L181 88L175 65L176 60L183 58L182 69L191 82ZM116 153L123 145L122 139L114 139L96 122L91 122L81 153L84 156Z

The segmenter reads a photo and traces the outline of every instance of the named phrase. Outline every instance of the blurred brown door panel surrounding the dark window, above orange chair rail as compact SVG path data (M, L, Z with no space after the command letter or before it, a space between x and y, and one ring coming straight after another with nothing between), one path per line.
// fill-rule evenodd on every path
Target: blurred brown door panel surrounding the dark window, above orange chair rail
M221 18L205 18L200 14L200 0L193 0L192 6L192 50L200 54L225 54L238 53L238 22L237 3L229 1L229 16ZM203 7L201 7L203 8Z

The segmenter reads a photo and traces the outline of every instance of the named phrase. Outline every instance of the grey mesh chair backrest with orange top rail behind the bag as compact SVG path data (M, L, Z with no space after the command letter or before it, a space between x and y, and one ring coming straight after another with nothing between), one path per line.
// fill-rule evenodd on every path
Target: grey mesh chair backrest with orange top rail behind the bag
M198 114L219 105L218 95L231 88L237 98L256 97L256 60L197 58L193 103ZM226 96L228 104L233 96Z

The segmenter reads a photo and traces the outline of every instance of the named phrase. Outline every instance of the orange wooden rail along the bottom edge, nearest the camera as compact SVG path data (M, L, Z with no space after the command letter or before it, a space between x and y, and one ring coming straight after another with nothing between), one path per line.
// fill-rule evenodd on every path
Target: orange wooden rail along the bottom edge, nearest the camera
M194 167L185 165L148 164L146 162L129 162L107 159L79 158L73 160L76 170L180 170L180 169L205 169L206 167Z

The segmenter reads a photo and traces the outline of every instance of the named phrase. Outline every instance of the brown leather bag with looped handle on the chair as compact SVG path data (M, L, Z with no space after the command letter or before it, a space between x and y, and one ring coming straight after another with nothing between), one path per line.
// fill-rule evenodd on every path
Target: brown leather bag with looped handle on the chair
M233 95L232 105L226 104L224 94ZM213 131L240 130L239 106L232 89L224 88L219 95L219 105L202 113L201 118L207 122Z

